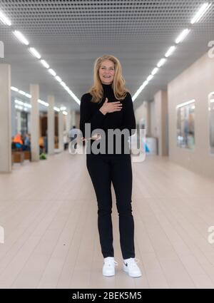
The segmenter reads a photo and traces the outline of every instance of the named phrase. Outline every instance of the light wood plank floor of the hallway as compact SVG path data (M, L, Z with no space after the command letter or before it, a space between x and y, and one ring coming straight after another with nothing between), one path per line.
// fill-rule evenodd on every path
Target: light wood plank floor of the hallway
M113 189L112 189L113 192ZM85 155L67 152L0 175L1 288L214 288L214 180L168 158L133 163L136 258L122 271L113 192L115 277L103 277L96 196Z

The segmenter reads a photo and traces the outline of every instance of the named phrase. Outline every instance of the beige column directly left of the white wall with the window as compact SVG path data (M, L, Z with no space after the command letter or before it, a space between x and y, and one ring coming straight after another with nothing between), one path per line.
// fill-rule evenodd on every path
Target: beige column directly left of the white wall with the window
M167 91L158 91L155 97L156 127L158 136L158 155L168 155L168 95Z

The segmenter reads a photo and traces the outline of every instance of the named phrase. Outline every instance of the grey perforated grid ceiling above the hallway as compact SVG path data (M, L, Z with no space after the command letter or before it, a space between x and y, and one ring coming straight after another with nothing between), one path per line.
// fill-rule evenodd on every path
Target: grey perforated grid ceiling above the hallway
M111 53L123 66L127 88L133 95L146 80L175 38L186 27L204 0L0 0L0 9L11 19L58 76L80 99L93 83L93 63ZM58 106L79 111L71 96L32 57L9 26L0 24L5 58L11 63L12 86L29 93L39 83L41 99L54 94ZM134 102L152 100L160 89L208 51L214 39L211 6L183 43Z

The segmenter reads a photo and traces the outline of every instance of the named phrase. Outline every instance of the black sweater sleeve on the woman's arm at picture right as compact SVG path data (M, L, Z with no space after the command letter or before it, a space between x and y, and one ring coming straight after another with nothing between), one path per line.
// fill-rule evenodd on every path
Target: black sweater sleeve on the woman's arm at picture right
M118 129L128 129L130 135L133 135L136 130L136 118L133 111L133 101L131 98L131 94L127 93L126 98L124 99L123 104L123 121L122 125L118 127Z

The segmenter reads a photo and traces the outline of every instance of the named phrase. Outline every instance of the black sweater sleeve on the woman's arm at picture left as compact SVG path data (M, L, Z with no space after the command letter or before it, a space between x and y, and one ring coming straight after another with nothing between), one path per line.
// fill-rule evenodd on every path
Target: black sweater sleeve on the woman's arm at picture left
M91 123L91 133L92 130L96 128L102 128L103 121L106 118L106 115L103 115L99 108L96 113L91 113L91 104L90 95L88 93L84 94L81 98L81 106L80 106L80 130L83 133L83 138L85 138L85 124Z

